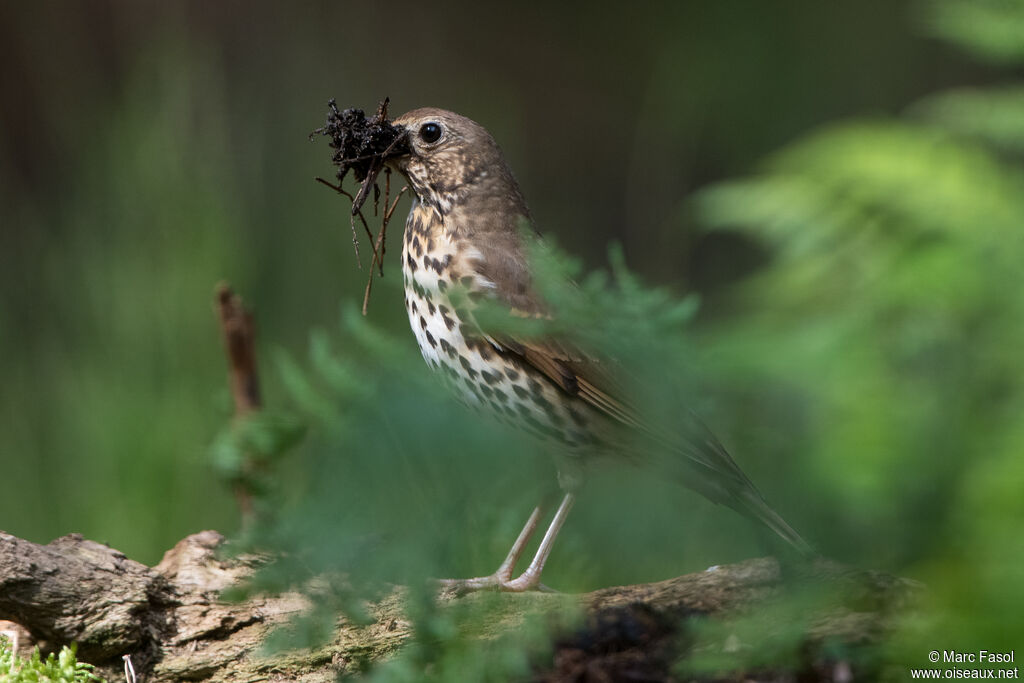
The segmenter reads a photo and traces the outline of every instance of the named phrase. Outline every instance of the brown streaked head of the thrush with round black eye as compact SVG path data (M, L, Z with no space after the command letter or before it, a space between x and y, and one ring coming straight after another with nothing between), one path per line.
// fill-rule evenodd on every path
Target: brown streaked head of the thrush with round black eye
M420 201L447 212L473 195L514 195L519 189L501 148L480 124L444 110L425 108L393 121L409 144L388 160L409 180Z

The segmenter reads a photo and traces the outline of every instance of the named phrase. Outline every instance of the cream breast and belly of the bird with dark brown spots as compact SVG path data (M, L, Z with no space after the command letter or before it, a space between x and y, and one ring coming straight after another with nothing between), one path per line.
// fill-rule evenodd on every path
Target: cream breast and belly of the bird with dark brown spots
M440 216L417 203L402 241L402 281L409 322L423 358L440 371L468 404L569 450L593 442L588 407L522 360L483 338L472 321L472 299L494 294L476 271L479 251L453 239ZM452 303L453 294L465 301Z

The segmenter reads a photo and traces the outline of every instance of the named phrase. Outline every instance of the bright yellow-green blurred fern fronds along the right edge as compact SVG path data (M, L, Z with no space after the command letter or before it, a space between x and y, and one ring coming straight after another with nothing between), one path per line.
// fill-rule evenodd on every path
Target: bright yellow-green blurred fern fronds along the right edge
M1021 3L930 8L972 52L1022 61L1007 28ZM703 223L772 254L732 294L735 316L706 331L744 390L791 397L788 419L739 419L787 434L833 502L826 554L929 586L891 646L907 665L942 643L1010 650L1024 635L1020 89L827 126L696 197Z

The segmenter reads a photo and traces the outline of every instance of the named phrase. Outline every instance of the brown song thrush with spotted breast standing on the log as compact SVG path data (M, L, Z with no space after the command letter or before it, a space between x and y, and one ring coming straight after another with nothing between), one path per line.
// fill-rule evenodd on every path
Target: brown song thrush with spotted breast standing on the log
M446 374L467 402L557 441L567 462L614 454L629 440L616 437L625 430L656 434L612 393L601 364L564 340L488 334L474 319L472 302L480 297L490 297L515 314L550 313L535 292L527 262L526 242L539 238L494 138L477 123L437 109L409 112L394 125L407 131L408 145L388 163L415 193L401 255L406 307L427 364ZM454 296L457 290L468 296ZM673 446L683 465L684 484L759 519L799 550L809 551L718 439L702 427L694 433L692 424L687 431ZM530 514L494 574L447 583L457 589L541 587L541 571L579 484L578 477L560 475L559 481L564 498L521 575L513 579L513 570L541 521L543 505Z

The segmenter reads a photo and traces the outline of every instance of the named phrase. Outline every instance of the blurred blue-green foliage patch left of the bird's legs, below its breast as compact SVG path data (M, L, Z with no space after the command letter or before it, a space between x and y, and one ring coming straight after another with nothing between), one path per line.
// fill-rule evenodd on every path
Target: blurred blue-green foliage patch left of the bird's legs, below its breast
M327 642L338 614L372 623L366 601L398 585L407 587L417 637L373 680L502 681L528 673L523 648L543 651L546 625L495 631L501 637L481 643L481 625L495 629L488 618L504 608L493 599L501 596L441 609L433 579L494 570L554 483L549 454L457 403L422 372L414 345L368 323L354 305L338 332L311 335L306 360L287 353L275 360L293 412L263 424L286 425L280 432L287 435L299 416L309 438L269 461L268 485L260 487L268 512L243 547L270 549L280 559L236 597L299 589L314 608L274 633L267 648ZM279 455L288 451L285 439L265 442L276 443ZM581 571L579 561L569 566Z

